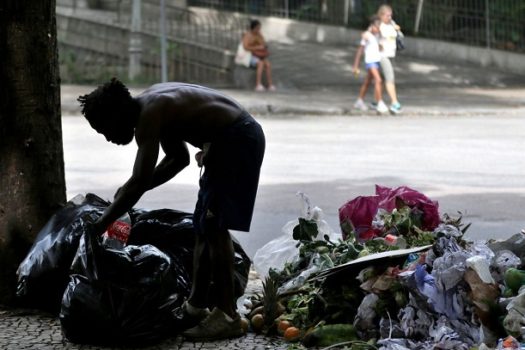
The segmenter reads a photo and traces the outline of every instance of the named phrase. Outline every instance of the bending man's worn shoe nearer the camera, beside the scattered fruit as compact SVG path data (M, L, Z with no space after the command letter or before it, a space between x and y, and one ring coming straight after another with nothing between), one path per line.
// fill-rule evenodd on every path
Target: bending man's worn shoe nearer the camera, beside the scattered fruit
M244 335L244 331L239 315L231 318L219 308L214 308L208 317L195 327L184 331L182 335L189 339L208 341L238 338Z

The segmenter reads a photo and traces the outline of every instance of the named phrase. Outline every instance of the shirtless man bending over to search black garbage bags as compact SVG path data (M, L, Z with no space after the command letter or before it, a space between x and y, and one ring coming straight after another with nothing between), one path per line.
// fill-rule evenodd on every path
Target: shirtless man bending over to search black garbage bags
M102 234L148 190L190 163L186 142L204 173L194 212L196 245L192 290L178 310L184 335L212 340L243 334L233 292L234 250L228 229L249 231L265 138L260 125L237 102L218 91L191 84L164 83L131 97L117 79L80 96L82 113L107 141L138 150L129 180L94 223ZM157 164L159 149L165 157ZM208 288L216 285L210 312Z

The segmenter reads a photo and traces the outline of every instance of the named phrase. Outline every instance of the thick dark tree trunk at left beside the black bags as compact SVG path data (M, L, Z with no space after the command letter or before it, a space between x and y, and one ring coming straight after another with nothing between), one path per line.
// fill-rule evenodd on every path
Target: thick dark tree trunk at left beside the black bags
M0 2L0 303L66 201L55 0Z

